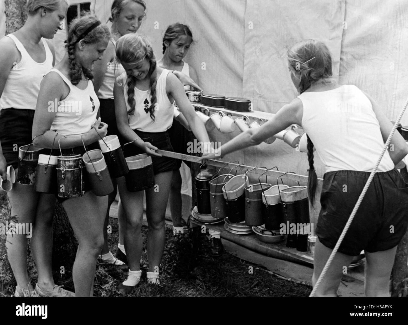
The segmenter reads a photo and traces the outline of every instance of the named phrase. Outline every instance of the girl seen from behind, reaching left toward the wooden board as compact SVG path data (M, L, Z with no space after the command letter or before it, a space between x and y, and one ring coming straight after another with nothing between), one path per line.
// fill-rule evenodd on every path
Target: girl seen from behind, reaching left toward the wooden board
M302 125L306 130L308 192L312 205L317 184L314 146L326 166L316 229L312 279L315 285L377 162L392 123L359 88L335 84L330 52L322 42L305 40L293 46L288 51L288 67L299 96L261 128L249 129L219 150L224 156L260 144L291 124ZM336 296L344 267L364 250L366 296L389 296L397 244L408 222L405 212L408 188L394 167L407 153L404 139L396 132L316 295ZM203 156L204 159L214 157L214 154Z

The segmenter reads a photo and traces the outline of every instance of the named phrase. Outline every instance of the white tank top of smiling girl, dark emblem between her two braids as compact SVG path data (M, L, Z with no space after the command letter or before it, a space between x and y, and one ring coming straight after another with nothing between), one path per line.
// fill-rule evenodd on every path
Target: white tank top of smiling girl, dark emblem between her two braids
M171 73L170 70L163 69L162 73L159 76L156 84L156 109L154 112L155 121L150 117L150 104L151 104L151 95L150 90L140 90L135 87L135 111L133 114L128 115L129 126L132 130L139 130L143 132L165 132L173 124L173 103L169 101L169 97L166 93L166 78L167 75ZM125 97L126 108L129 112L131 107L127 102L127 83L126 83L126 73L123 73L118 78L118 81L124 83L123 94Z

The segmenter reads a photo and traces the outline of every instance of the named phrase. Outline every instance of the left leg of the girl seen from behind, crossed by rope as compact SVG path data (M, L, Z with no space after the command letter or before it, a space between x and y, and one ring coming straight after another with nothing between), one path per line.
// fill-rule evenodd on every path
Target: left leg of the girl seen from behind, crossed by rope
M326 264L331 252L330 248L327 248L322 243L320 243L319 239L316 239L316 246L315 246L315 260L314 260L314 269L313 269L313 278L312 284L313 287L319 279L320 273ZM339 288L341 277L343 276L344 268L350 265L353 256L349 256L346 254L336 253L333 261L330 264L329 269L324 276L324 279L319 284L319 287L316 291L316 296L337 296L337 289Z

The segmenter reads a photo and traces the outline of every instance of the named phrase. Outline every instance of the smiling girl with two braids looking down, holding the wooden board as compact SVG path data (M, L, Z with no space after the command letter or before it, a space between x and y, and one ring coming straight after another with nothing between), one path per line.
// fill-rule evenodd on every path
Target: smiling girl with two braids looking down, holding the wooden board
M148 40L137 34L122 36L116 44L116 57L125 69L114 87L115 113L118 129L126 142L153 156L155 186L146 190L146 217L149 224L147 282L159 284L159 266L164 250L164 217L171 186L175 159L166 158L155 150L173 151L167 130L173 123L176 102L199 141L209 145L204 124L195 114L182 83L171 71L157 65ZM150 141L143 139L150 138ZM144 191L129 192L124 177L118 179L120 199L126 216L124 246L129 276L119 285L126 295L139 283L142 271L142 219Z

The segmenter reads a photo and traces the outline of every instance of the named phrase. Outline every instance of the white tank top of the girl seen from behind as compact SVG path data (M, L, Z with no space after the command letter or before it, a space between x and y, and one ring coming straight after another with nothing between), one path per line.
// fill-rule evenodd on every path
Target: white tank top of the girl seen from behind
M326 165L326 172L358 170L370 172L384 147L379 122L370 99L354 85L330 91L306 92L302 127ZM386 151L379 172L394 168Z

